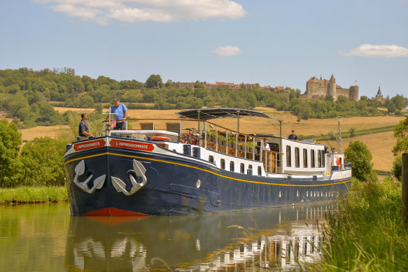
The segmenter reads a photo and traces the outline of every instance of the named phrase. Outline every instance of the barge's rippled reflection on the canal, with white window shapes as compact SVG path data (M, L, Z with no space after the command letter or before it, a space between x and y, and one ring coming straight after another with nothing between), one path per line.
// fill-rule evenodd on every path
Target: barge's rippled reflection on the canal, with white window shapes
M300 206L198 217L71 217L66 267L69 271L293 271L320 259L316 219L322 220L328 209Z

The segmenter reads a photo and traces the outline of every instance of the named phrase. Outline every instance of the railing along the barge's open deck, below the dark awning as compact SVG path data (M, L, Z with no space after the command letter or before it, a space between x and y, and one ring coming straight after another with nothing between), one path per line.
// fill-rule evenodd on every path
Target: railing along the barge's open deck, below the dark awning
M132 122L129 123L129 126L128 121ZM137 123L139 123L140 127L137 127ZM171 129L169 129L169 124L171 124ZM176 126L176 124L179 124L179 126ZM106 125L108 125L108 121L104 122L104 131L107 131ZM198 129L192 129L196 125ZM192 135L192 137L197 137L197 145L203 148L234 157L263 162L267 173L278 173L278 169L281 168L280 160L283 153L265 150L263 148L263 138L227 129L213 122L180 118L136 118L126 120L127 129L146 130L145 127L152 130L176 132L179 139L188 136L189 130L192 129L195 131L195 135ZM109 134L109 132L107 133Z

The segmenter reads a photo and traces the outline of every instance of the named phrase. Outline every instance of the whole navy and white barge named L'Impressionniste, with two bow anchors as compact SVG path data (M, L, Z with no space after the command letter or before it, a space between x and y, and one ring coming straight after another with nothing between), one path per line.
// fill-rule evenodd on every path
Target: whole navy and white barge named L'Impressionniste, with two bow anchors
M265 113L202 108L178 114L184 119L135 120L141 130L105 130L104 136L67 146L71 213L202 214L335 199L348 190L351 168L343 154L282 136L242 134L239 124L234 131L208 121L272 118ZM160 122L166 130L157 130ZM183 134L183 127L197 125L197 138ZM270 151L262 148L263 138Z

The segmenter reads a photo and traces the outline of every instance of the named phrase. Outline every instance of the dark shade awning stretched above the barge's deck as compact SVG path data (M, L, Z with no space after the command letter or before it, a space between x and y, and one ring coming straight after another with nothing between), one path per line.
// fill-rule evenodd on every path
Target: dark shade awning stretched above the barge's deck
M192 120L210 120L223 117L264 117L269 119L283 121L282 119L270 117L266 113L258 110L246 110L244 108L197 108L194 110L183 110L177 113L181 117Z

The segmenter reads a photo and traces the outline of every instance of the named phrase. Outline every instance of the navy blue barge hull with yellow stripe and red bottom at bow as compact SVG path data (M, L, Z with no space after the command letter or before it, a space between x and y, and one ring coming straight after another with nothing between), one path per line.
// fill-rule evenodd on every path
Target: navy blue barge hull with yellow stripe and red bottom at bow
M135 173L134 161L146 169L146 185L126 195L113 186L112 177L131 191L129 175L137 182L143 176ZM80 163L83 172L78 171ZM64 166L73 215L203 214L286 206L336 199L350 186L350 178L266 178L221 170L188 156L114 146L71 152Z

